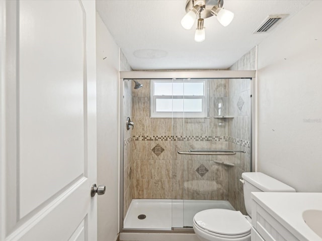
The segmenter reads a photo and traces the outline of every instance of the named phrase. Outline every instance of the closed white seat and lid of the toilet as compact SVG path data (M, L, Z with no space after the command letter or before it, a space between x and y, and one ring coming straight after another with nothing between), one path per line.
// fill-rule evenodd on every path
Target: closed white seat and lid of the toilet
M239 238L251 233L251 224L240 211L207 209L198 212L193 221L196 228L214 236Z

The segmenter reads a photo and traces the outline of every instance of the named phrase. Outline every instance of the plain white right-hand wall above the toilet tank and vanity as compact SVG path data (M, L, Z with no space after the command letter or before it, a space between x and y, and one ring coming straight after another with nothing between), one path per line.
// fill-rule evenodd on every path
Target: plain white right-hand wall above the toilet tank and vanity
M322 1L258 46L258 171L322 192Z

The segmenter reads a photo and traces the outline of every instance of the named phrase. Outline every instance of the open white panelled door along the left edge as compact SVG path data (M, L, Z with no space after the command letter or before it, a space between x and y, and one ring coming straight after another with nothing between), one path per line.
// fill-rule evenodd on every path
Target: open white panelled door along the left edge
M97 239L94 1L0 1L1 240Z

